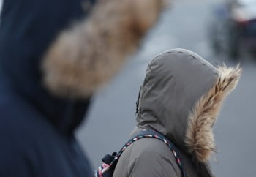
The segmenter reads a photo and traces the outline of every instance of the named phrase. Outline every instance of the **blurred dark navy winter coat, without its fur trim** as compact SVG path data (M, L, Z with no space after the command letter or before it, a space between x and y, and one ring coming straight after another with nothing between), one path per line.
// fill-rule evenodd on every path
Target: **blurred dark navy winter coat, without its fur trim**
M89 1L89 0L87 0ZM0 25L0 176L91 176L74 129L89 106L42 85L42 56L87 12L82 0L6 0Z

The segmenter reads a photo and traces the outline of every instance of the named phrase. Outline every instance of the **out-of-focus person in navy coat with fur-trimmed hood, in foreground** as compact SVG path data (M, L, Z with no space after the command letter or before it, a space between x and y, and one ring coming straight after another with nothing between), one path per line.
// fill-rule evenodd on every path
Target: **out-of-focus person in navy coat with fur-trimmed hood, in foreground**
M91 95L138 48L164 2L93 4L89 0L4 1L0 176L92 175L74 130Z

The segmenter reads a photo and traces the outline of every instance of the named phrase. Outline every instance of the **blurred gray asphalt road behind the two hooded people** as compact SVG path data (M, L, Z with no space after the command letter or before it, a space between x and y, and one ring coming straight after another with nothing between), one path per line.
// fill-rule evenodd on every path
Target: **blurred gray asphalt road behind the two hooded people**
M124 69L94 96L87 121L78 139L94 167L107 153L118 151L135 127L135 102L146 64L169 48L187 48L211 62L221 64L208 45L207 26L216 1L178 1L152 29L138 53ZM219 152L211 164L216 176L256 176L256 59L242 59L243 75L238 88L225 102L214 128Z

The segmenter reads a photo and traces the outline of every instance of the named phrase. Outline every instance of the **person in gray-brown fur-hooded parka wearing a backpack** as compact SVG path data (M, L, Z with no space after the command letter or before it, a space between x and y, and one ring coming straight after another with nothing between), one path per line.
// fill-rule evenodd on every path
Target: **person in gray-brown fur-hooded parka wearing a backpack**
M178 148L187 176L214 176L208 165L215 151L212 127L240 74L240 67L214 67L189 50L162 53L148 64L131 137L140 129L160 132ZM165 143L143 138L124 151L113 176L182 174Z

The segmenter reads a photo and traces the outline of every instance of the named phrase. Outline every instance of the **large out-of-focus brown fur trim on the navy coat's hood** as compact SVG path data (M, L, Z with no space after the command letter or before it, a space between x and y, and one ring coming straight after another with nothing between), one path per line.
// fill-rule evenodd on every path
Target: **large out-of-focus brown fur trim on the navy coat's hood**
M164 2L98 1L89 18L62 32L50 46L42 61L45 85L62 97L91 95L138 48Z

